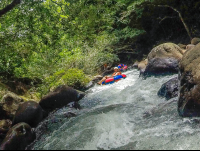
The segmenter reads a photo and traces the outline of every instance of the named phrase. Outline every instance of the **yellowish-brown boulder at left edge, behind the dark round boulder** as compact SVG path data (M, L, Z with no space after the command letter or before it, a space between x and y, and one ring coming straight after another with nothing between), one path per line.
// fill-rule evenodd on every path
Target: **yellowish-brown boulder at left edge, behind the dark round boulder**
M0 119L13 119L19 105L24 100L14 93L6 94L0 102Z

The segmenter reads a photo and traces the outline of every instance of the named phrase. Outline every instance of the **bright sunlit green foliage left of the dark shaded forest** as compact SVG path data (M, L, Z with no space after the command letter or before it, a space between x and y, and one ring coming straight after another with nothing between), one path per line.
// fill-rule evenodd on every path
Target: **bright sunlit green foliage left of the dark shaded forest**
M10 2L2 0L0 9ZM146 3L158 1L23 1L0 18L0 73L40 78L46 89L61 83L83 87L85 75L119 61L115 45L145 33L140 19Z

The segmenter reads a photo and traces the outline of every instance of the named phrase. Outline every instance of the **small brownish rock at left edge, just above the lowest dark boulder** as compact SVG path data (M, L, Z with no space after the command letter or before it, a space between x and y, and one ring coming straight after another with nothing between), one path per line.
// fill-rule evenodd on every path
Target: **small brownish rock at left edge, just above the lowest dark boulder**
M10 120L2 120L0 121L0 138L4 138L6 133L12 126L12 122Z

